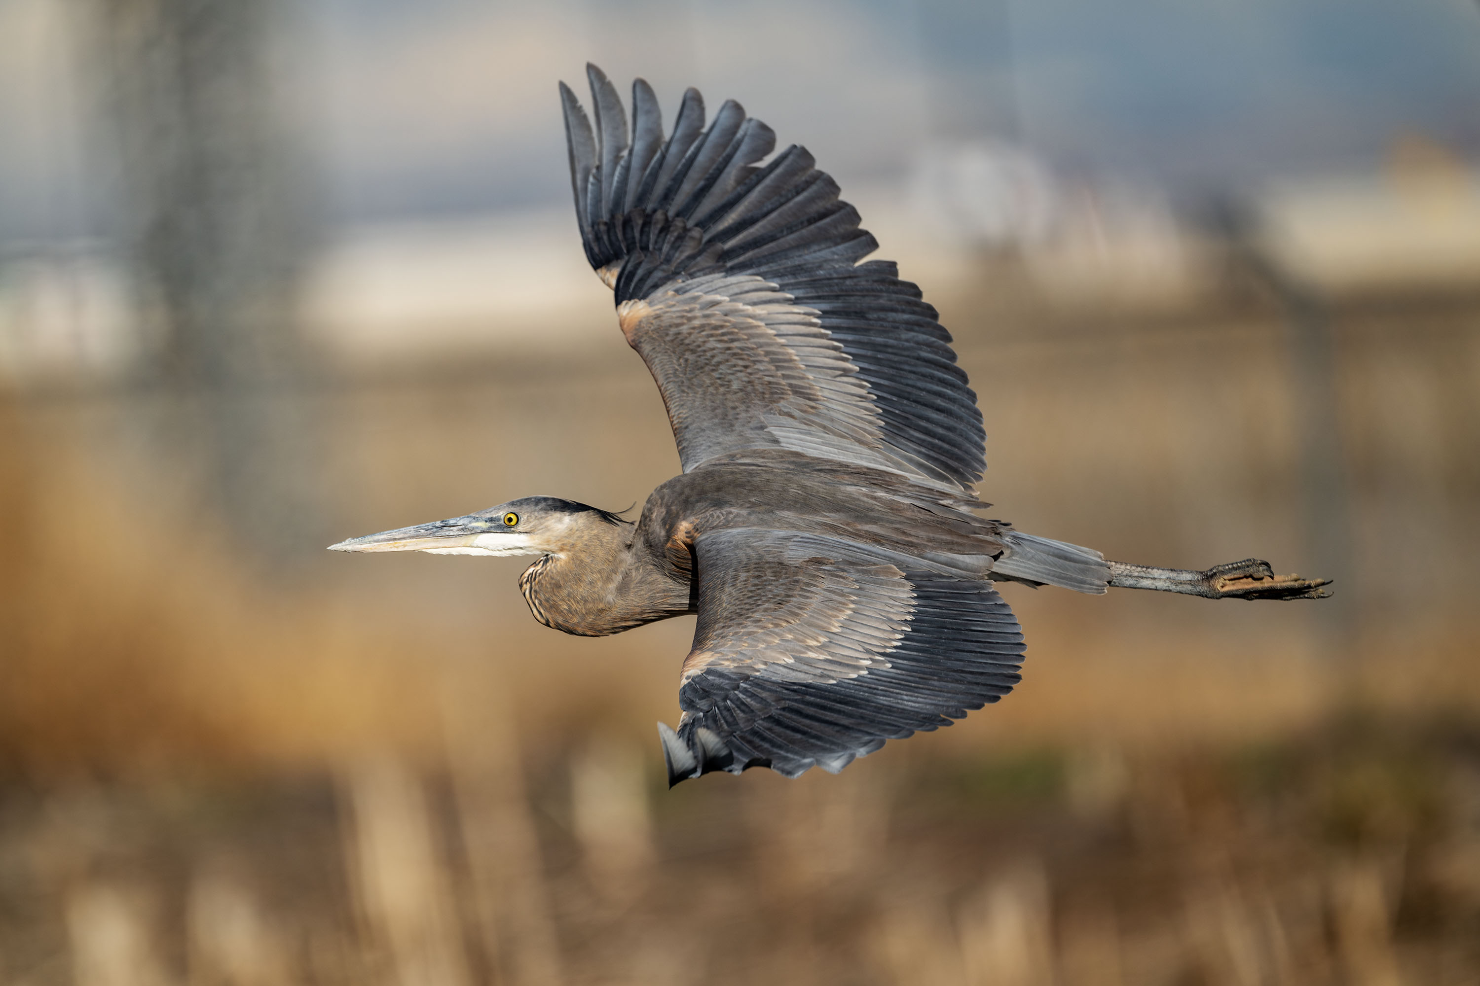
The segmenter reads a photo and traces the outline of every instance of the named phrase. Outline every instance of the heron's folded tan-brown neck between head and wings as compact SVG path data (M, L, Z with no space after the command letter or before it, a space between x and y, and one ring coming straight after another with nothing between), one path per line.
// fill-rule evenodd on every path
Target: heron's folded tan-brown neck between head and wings
M543 554L519 575L530 612L546 627L604 637L690 612L690 588L633 544L629 525L586 531L580 548Z

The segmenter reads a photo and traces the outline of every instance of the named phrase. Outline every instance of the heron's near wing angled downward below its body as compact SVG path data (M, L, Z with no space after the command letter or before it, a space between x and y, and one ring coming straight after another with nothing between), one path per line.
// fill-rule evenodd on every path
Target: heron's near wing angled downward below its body
M699 627L669 783L768 766L838 772L949 726L1018 681L1023 633L992 582L839 538L728 529L696 541Z

